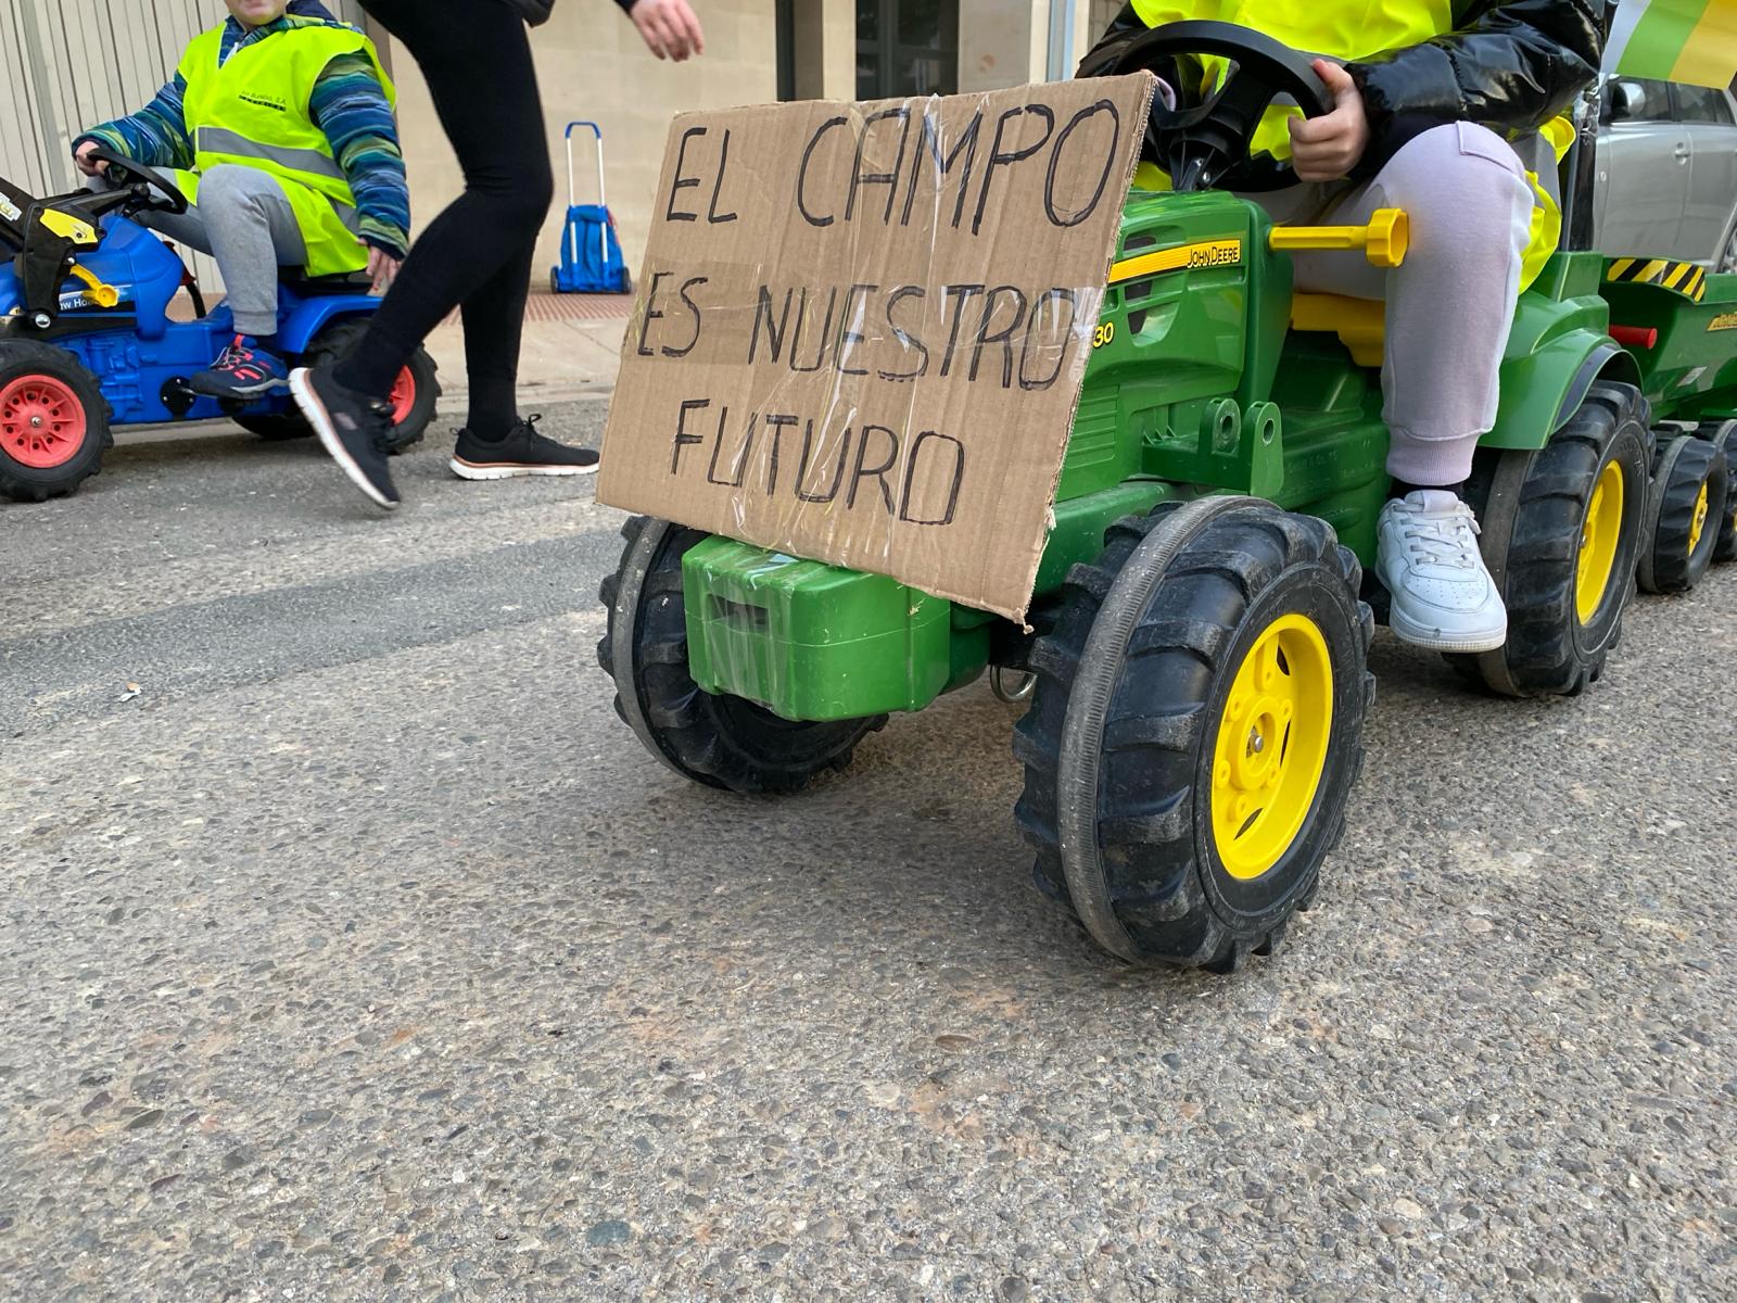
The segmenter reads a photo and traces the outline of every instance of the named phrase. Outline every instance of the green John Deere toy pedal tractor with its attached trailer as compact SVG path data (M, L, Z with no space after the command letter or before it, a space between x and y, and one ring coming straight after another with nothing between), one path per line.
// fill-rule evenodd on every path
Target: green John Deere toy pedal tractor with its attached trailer
M1308 61L1263 35L1174 24L1096 71L1199 54L1233 68L1202 108L1153 109L1176 188L1122 214L1035 636L888 577L634 518L603 584L599 658L655 756L738 792L842 768L888 714L985 669L1032 674L1014 815L1039 886L1124 959L1230 971L1271 950L1339 839L1383 605L1364 579L1390 492L1381 306L1294 294L1285 250L1362 245L1397 266L1407 226L1275 229L1230 193L1292 181L1247 155L1277 94L1332 108ZM1569 160L1582 186L1591 142ZM1617 271L1558 252L1516 309L1470 485L1509 638L1450 657L1497 693L1581 691L1641 559L1681 585L1730 537L1737 334L1720 323L1737 323L1737 278ZM1612 314L1647 347L1614 339ZM1681 422L1662 453L1648 401Z

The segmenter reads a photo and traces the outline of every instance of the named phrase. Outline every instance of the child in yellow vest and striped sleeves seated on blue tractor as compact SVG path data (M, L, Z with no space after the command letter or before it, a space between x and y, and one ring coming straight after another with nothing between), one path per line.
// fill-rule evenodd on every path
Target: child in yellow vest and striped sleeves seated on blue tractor
M384 288L410 243L410 193L393 87L368 38L309 0L228 5L146 108L92 127L73 153L97 184L99 146L175 172L188 212L141 221L217 259L236 330L189 384L245 400L288 384L278 268L367 269Z

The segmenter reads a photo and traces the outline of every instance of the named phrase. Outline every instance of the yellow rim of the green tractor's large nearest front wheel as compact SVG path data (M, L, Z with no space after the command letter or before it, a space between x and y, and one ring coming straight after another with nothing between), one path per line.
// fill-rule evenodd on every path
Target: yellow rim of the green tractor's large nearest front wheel
M1315 804L1332 737L1332 658L1306 615L1282 615L1230 685L1212 752L1212 844L1232 877L1259 877Z

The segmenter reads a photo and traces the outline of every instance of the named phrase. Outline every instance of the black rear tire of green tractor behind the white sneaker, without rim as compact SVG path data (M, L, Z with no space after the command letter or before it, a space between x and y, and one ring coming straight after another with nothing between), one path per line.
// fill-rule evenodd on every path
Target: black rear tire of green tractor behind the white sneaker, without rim
M1483 563L1508 605L1508 643L1449 653L1461 678L1503 697L1574 697L1603 674L1635 596L1650 462L1647 400L1635 386L1608 380L1593 384L1542 448L1478 453L1466 500L1483 530ZM1575 606L1582 539L1612 464L1622 483L1619 533L1602 598L1582 620Z

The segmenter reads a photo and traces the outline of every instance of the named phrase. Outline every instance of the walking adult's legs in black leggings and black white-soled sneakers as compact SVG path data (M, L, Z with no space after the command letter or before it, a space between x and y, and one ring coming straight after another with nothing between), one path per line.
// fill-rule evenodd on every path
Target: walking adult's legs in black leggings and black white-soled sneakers
M499 480L596 469L596 453L542 438L518 415L525 297L554 193L525 23L505 3L479 0L365 0L365 9L422 69L464 193L412 245L356 351L292 377L297 401L351 480L396 506L380 407L410 354L462 308L471 412L453 471Z

